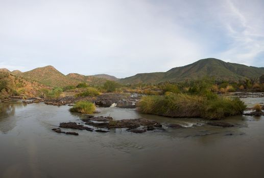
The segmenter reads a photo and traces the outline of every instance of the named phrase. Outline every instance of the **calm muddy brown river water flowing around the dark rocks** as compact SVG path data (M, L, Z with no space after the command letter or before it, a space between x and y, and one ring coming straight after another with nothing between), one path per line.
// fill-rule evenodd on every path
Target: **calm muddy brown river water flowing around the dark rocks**
M224 122L236 127L221 128L199 118L111 107L98 115L145 117L185 128L142 134L77 131L74 136L51 130L60 122L80 122L82 115L71 114L69 106L13 102L3 108L0 177L264 177L264 117L229 117Z

